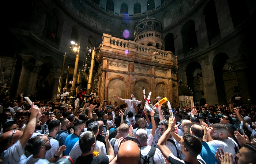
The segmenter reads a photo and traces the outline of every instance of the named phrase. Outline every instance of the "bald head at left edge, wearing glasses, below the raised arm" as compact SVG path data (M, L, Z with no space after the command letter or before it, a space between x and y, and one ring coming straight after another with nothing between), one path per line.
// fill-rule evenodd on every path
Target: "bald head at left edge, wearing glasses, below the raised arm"
M22 136L22 131L20 130L15 130L14 134L13 134L14 130L10 130L6 133L4 133L1 137L0 137L0 151L4 151L8 148L10 148L12 145L14 145ZM12 136L13 134L13 136ZM12 136L12 138L11 138ZM11 139L11 142L10 142Z

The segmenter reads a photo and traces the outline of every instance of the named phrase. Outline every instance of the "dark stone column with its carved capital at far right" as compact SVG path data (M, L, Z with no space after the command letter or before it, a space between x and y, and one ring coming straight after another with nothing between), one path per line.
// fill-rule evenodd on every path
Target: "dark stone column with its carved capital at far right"
M233 65L235 68L238 89L240 90L241 99L243 104L248 104L248 99L251 99L251 89L249 85L250 70L248 69L248 60L245 55L237 55L233 58L227 59L229 65ZM240 105L241 106L241 105Z

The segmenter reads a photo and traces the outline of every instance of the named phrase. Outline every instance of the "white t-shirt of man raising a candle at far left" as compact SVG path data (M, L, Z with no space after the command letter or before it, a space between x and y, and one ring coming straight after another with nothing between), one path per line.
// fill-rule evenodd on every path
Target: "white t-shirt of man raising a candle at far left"
M24 152L20 141L17 141L12 147L4 151L3 164L23 164L27 159Z

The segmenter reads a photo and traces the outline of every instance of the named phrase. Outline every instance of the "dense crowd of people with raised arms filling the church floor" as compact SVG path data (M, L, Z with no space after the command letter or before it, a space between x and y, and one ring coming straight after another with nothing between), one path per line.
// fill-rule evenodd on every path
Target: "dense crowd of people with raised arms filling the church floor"
M80 89L71 104L6 97L0 105L3 164L49 164L70 156L76 164L255 164L256 106L208 104L189 108L113 97ZM119 104L119 105L118 105Z

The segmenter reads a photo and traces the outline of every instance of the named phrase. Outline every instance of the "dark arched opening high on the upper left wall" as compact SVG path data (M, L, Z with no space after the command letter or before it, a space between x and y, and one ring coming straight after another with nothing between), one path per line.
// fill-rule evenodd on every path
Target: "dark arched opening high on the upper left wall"
M59 38L57 36L58 35L58 27L59 27L59 19L53 13L53 15L50 16L49 20L48 20L46 36L48 36L52 40L55 40L56 42L59 42Z

